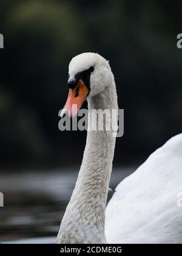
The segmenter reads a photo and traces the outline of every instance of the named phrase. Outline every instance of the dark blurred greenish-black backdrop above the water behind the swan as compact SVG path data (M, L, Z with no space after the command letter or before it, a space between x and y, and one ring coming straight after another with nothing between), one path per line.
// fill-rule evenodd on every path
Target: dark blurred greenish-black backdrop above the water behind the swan
M115 166L139 165L181 133L181 24L181 1L1 0L1 174L78 171L86 132L60 132L58 112L82 52L103 55L115 74L125 113Z

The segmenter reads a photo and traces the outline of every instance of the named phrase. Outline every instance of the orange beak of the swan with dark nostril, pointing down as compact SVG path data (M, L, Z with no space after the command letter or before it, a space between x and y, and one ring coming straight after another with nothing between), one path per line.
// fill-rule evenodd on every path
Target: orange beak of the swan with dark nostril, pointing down
M83 105L88 93L89 89L84 85L83 80L79 79L76 87L69 90L69 96L66 105L61 112L61 116L68 112L70 117L75 117Z

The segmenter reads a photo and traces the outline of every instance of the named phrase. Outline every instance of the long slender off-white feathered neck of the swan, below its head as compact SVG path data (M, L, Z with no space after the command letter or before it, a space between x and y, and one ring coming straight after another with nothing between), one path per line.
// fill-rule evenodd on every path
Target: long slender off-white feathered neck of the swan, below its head
M89 110L118 109L114 79L102 93L88 100L88 107ZM83 163L61 222L57 243L107 243L104 232L105 210L114 150L112 130L107 131L104 126L103 131L87 132Z

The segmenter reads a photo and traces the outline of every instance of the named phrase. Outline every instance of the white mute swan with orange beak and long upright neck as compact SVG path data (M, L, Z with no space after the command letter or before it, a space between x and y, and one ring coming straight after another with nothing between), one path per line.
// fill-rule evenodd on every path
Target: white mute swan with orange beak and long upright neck
M118 108L112 71L98 54L73 58L68 84L62 113L70 110L76 115L73 102L79 109L86 98L89 109ZM182 134L123 180L106 208L114 149L112 132L87 132L83 163L56 243L182 243L182 208L177 204L182 191Z

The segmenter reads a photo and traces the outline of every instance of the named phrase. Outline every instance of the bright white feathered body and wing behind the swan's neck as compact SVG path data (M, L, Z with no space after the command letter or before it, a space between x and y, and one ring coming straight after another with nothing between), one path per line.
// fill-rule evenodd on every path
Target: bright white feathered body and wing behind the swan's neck
M182 133L116 188L106 208L108 243L182 243Z

